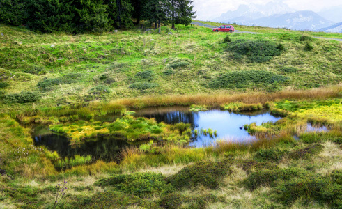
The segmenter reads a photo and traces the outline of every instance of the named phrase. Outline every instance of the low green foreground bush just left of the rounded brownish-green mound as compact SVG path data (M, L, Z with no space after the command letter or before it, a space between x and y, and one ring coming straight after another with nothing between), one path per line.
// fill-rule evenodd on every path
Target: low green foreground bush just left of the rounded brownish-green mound
M166 183L161 173L134 173L116 175L98 180L95 185L113 186L119 192L146 196L150 194L168 194L173 192L173 186Z

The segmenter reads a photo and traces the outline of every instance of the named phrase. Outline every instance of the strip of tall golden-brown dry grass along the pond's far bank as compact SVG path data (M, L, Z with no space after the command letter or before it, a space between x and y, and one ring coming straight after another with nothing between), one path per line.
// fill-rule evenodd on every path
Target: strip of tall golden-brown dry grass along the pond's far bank
M146 96L141 98L125 98L113 100L110 104L121 104L125 107L139 109L143 107L158 107L191 104L207 105L208 107L219 107L229 102L243 102L245 104L265 104L283 99L311 100L341 97L342 86L330 86L327 88L314 88L311 90L279 91L276 93L236 93L236 94L196 94L196 95L160 95Z

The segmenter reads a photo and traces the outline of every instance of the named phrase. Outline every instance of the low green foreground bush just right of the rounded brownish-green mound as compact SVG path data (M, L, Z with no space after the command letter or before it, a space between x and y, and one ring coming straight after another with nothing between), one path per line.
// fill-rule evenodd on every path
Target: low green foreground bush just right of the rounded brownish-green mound
M306 170L300 168L288 168L288 169L261 169L250 173L244 185L249 189L256 189L262 185L268 185L270 187L276 186L281 180L290 180L291 178L300 178L305 176Z

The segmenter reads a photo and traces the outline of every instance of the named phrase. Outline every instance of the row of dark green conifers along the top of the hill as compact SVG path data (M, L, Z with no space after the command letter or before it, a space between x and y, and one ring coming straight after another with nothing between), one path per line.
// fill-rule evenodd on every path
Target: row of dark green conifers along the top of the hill
M191 23L192 0L0 0L0 22L33 31L103 33L147 24Z

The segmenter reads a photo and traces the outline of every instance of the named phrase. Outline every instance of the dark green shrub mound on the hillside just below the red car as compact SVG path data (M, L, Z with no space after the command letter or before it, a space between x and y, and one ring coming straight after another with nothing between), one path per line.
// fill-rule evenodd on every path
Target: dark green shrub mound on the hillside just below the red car
M279 56L283 52L283 45L277 45L267 40L235 40L229 43L226 51L233 52L235 56L247 56L252 62L262 63L270 61L273 56Z

